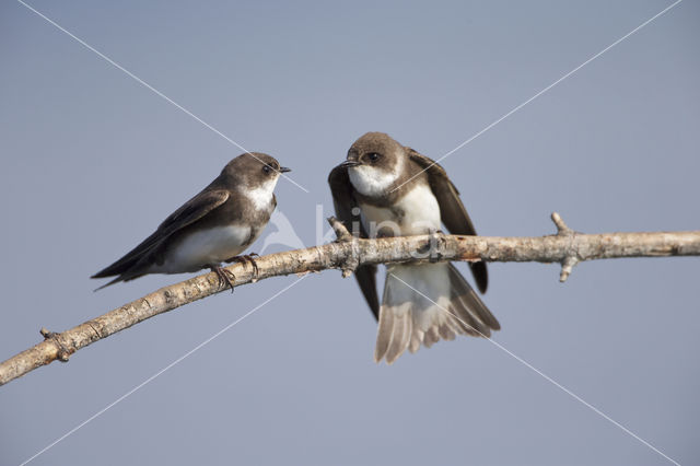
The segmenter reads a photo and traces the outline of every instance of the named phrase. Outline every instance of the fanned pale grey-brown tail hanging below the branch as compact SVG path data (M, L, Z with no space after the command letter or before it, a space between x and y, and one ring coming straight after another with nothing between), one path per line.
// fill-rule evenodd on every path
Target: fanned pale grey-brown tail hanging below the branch
M393 363L456 335L490 337L501 326L450 263L387 267L374 360Z

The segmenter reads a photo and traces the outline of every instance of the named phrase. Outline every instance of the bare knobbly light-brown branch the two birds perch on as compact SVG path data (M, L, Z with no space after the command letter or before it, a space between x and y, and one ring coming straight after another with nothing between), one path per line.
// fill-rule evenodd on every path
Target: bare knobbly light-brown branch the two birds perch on
M363 264L415 260L537 261L561 264L560 281L584 260L618 257L699 256L700 231L583 234L552 213L557 234L533 237L457 236L435 233L377 240L353 238L335 218L328 222L338 241L323 246L271 254L228 269L235 287L270 277L340 269L347 277ZM56 334L40 330L44 341L0 363L0 385L55 360L68 361L81 348L129 328L147 318L228 290L215 273L206 273L162 288L131 303Z

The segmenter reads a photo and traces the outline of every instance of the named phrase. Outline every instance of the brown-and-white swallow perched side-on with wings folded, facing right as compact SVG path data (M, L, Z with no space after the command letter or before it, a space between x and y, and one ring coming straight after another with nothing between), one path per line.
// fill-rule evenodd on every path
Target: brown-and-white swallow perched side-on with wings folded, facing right
M282 173L272 156L246 152L231 160L198 195L168 215L153 234L91 278L116 278L110 284L147 273L183 273L210 268L233 290L235 277L222 263L250 260L238 256L257 240L277 207L273 190ZM96 290L95 290L96 291Z

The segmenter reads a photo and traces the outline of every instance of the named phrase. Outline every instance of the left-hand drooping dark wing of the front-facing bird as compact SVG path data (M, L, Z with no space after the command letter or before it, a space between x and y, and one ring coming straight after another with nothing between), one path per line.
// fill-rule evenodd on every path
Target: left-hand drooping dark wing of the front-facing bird
M352 213L353 208L359 206L353 195L353 188L348 177L348 168L336 166L328 175L328 184L330 185L330 194L332 195L332 203L336 208L336 215L349 232L352 232L353 223L360 225L360 236L368 237L368 233L362 228L360 215ZM357 223L355 223L357 222ZM372 314L375 318L380 316L380 298L376 292L376 266L360 266L354 271L354 277L360 284L360 290L364 294L364 299L370 305Z

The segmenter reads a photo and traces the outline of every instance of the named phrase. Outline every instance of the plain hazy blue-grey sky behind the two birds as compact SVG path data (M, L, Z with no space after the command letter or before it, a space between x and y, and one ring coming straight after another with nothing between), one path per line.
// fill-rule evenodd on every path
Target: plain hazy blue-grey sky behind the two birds
M32 5L306 187L385 131L440 158L669 1ZM443 165L480 234L697 230L700 4L685 0ZM21 3L0 4L0 359L190 276L89 277L242 151ZM323 226L324 230L327 228ZM250 251L260 252L269 225ZM284 251L270 245L266 253ZM459 266L466 270L465 265ZM680 464L700 458L698 258L490 265L493 337ZM0 387L16 465L295 277L221 293ZM94 464L670 464L483 339L372 356L353 279L313 275L35 458Z

